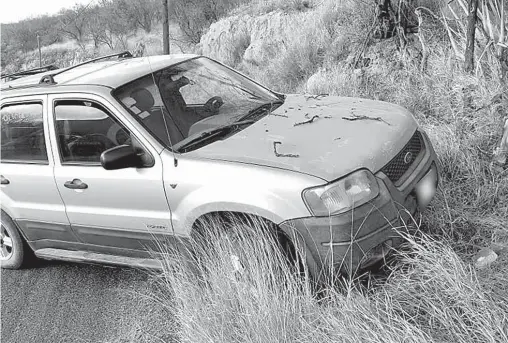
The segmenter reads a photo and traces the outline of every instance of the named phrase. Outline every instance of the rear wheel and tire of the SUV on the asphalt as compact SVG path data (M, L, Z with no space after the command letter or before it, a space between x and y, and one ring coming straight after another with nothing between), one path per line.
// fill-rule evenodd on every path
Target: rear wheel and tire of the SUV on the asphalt
M2 269L20 269L30 248L19 234L16 224L3 211L0 224L0 265Z

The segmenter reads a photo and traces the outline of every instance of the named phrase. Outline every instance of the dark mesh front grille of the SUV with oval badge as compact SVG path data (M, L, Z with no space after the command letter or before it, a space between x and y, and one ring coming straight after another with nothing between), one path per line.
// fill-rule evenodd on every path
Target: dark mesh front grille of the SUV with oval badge
M388 178L399 186L406 178L402 179L404 174L411 168L416 161L421 160L425 151L425 143L420 131L416 131L413 137L406 144L397 156L395 156L386 166L381 169Z

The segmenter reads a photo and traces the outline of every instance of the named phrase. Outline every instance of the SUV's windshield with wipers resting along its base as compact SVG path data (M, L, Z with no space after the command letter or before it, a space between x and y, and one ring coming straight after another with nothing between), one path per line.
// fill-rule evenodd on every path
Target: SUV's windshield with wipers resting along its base
M115 95L161 143L177 151L245 128L282 103L266 88L203 57L148 74Z

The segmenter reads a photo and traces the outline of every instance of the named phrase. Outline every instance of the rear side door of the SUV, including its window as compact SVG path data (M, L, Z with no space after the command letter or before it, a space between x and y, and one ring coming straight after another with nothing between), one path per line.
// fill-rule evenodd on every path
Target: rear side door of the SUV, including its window
M39 95L0 104L2 210L28 241L77 242L53 176L46 102L47 96Z

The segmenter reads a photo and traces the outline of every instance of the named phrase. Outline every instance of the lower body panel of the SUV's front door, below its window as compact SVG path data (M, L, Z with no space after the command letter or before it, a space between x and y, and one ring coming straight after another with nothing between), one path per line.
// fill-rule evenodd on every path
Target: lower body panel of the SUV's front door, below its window
M171 217L160 163L158 167L56 168L55 179L66 204L67 216L83 242L142 249L143 244L149 243L151 233L170 233ZM83 190L65 187L66 182L74 179L88 187Z

